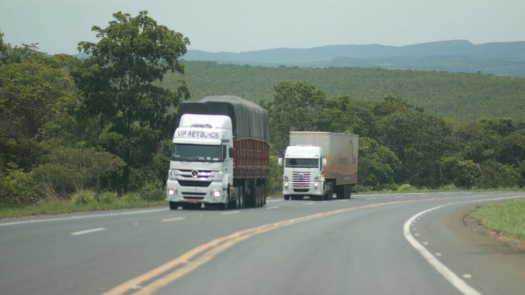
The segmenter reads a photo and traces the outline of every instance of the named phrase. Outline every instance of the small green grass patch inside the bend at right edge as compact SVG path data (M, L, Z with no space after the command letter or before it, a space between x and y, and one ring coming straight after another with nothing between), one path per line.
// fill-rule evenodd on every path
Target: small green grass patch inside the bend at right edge
M525 240L525 199L490 203L469 216L487 229Z

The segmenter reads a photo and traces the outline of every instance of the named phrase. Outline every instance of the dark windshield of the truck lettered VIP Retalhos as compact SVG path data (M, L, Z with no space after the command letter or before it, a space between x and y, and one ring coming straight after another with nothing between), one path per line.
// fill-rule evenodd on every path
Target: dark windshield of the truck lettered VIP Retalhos
M173 144L172 161L222 162L222 145Z

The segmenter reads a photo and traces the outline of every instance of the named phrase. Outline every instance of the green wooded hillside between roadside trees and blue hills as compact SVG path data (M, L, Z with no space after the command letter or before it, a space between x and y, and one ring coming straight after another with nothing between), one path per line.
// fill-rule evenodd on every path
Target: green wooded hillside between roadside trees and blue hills
M452 62L454 58L448 60ZM474 121L480 117L511 117L525 121L525 78L520 77L381 68L241 66L201 61L186 61L184 65L183 77L166 74L162 85L175 89L177 79L183 78L193 100L212 94L233 94L255 102L271 100L278 82L303 80L332 96L377 101L392 94L442 118Z

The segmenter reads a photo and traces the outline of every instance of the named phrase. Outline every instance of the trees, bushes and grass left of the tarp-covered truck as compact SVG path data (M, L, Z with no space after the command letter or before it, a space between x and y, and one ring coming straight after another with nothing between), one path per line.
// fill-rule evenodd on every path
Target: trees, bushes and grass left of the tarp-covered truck
M153 85L189 40L147 12L115 13L93 27L90 57L46 56L0 33L0 210L2 216L160 204L173 110L188 98ZM109 193L101 193L109 192Z

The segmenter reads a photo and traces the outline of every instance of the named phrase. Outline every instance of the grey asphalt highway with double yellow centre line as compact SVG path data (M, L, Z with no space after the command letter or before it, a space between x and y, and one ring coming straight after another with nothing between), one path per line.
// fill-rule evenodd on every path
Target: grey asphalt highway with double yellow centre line
M524 193L0 220L0 294L525 294L525 254L463 224Z

